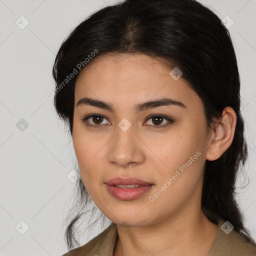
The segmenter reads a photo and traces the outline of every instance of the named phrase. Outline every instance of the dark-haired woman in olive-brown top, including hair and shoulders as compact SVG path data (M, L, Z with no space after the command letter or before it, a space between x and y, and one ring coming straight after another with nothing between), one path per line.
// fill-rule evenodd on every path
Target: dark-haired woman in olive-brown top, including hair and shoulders
M80 172L68 249L90 198L112 222L65 256L255 255L234 197L247 156L236 56L213 12L107 6L65 39L53 76Z

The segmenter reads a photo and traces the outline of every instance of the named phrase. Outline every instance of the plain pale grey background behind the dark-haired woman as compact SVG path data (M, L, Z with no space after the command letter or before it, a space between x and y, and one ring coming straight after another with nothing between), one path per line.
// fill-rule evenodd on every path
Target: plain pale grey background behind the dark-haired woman
M0 255L61 255L67 251L63 220L75 183L66 175L75 167L75 155L46 94L54 88L51 69L62 40L89 13L114 2L0 0ZM256 0L200 2L221 19L228 15L234 21L229 31L240 72L249 145L246 172L237 182L237 200L245 226L256 239ZM22 15L29 21L24 29L15 23L25 24L24 19L20 21ZM26 224L20 221L29 226L24 234L20 232ZM81 244L101 230L99 223L85 230Z

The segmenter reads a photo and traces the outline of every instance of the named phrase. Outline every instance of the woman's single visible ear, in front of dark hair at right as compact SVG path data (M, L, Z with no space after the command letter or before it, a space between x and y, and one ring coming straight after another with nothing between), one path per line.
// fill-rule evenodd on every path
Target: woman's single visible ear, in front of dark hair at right
M236 114L232 107L226 106L216 121L207 145L206 159L218 159L231 145L236 125Z

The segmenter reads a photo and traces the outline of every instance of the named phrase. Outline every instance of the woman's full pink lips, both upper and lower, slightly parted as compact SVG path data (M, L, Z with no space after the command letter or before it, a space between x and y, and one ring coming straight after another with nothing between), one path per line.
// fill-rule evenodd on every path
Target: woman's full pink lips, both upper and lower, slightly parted
M138 187L134 188L122 188L115 186L116 184L119 185L139 185ZM128 178L121 178L121 177L114 177L109 179L105 182L107 191L117 199L120 200L132 200L139 197L141 194L147 192L152 187L152 183L146 182L144 180L135 178L135 177L128 177Z

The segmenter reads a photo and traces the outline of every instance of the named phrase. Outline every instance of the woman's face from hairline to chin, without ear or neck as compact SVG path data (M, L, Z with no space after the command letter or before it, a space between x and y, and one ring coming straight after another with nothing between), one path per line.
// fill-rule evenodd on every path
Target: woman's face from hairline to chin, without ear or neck
M82 181L96 206L116 224L132 226L198 214L209 141L199 96L182 76L170 75L171 69L147 55L95 60L76 80L73 146ZM80 100L84 97L104 104L86 103ZM139 107L162 98L181 103ZM95 116L82 120L89 114ZM156 117L149 117L152 114ZM140 195L138 188L111 186L114 196L105 182L116 176L153 185Z

